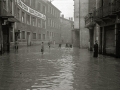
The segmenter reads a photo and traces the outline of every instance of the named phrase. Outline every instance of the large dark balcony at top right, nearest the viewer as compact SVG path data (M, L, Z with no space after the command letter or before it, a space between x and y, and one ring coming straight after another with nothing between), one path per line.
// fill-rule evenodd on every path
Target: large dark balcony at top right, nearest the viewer
M120 13L120 0L114 0L112 3L94 10L94 12L94 20L96 22L116 18L116 15Z

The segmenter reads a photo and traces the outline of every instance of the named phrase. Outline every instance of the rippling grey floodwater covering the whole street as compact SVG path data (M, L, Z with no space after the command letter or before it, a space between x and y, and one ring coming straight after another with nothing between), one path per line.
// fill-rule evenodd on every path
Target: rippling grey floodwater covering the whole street
M120 59L86 49L23 47L0 56L0 90L120 90Z

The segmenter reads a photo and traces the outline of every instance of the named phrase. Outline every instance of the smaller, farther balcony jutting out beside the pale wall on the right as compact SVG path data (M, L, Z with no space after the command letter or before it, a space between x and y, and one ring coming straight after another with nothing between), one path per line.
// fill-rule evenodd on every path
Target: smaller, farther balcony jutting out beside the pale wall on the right
M92 29L92 27L95 25L94 18L93 18L94 13L89 13L85 17L85 27Z

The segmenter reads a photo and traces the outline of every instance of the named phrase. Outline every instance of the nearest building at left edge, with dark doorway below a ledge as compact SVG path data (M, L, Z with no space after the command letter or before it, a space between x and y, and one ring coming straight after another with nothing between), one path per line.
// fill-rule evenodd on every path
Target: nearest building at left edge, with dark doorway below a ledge
M15 15L15 0L0 0L0 53L10 51L11 36L14 36L14 23L19 22Z

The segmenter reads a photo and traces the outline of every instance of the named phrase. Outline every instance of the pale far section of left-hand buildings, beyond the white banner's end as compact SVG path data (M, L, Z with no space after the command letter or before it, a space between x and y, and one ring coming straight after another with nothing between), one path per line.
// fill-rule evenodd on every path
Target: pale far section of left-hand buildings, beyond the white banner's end
M57 9L51 2L47 3L47 41L60 43L61 40L61 11Z

